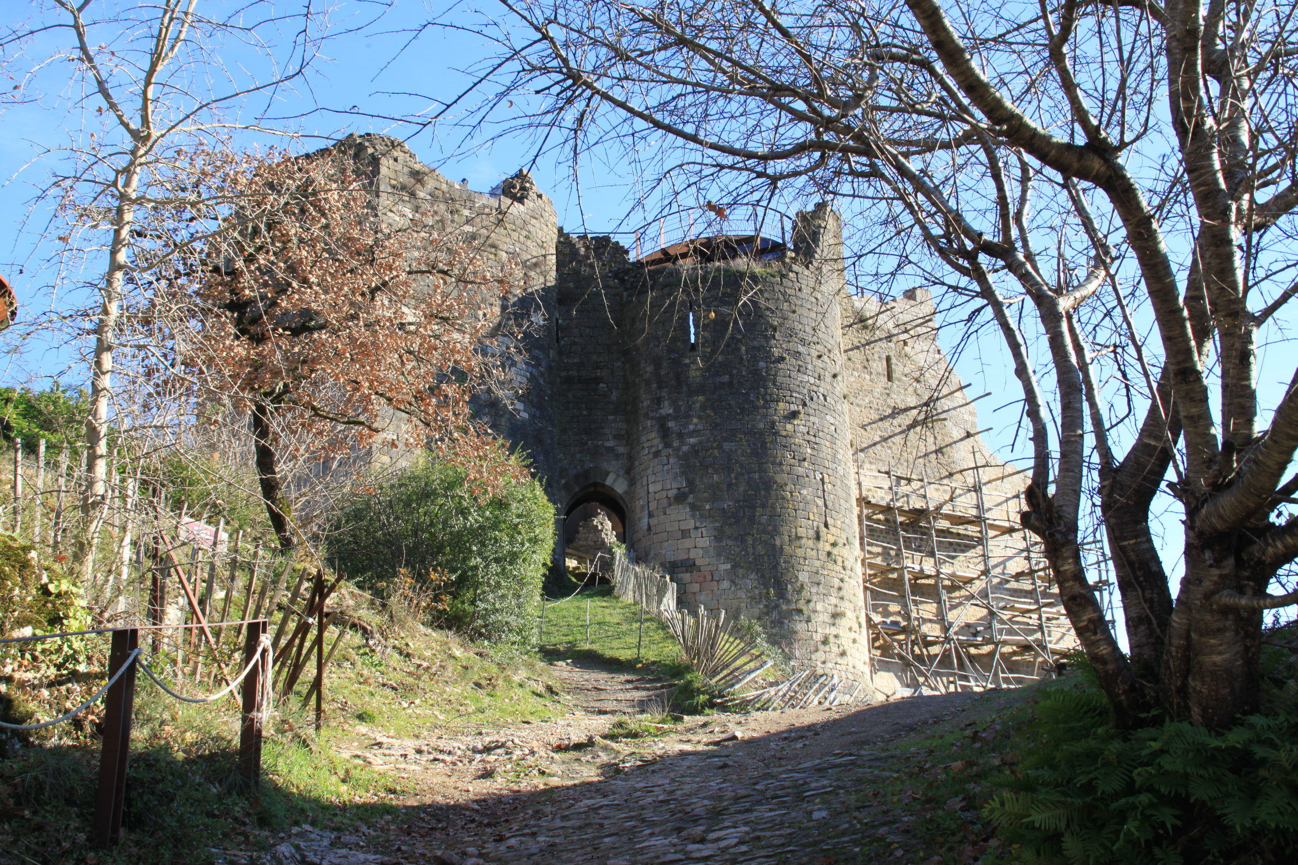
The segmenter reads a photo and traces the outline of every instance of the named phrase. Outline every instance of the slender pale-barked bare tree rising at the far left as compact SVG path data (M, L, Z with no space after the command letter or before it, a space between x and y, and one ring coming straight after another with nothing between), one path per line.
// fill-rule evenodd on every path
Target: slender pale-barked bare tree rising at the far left
M123 297L140 270L141 239L154 241L153 266L167 257L156 254L161 235L151 231L151 214L178 197L193 197L192 188L167 183L183 180L188 149L218 147L239 130L269 131L252 99L269 106L279 88L306 73L330 10L308 5L283 12L269 0L254 0L218 14L226 17L208 17L199 0L52 0L32 22L0 35L5 66L26 65L38 83L48 78L42 70L52 64L71 70L70 82L56 89L71 93L73 144L44 154L60 169L42 198L53 201L66 222L66 233L57 240L65 244L67 271L91 274L84 287L95 298L91 309L73 316L80 326L87 318L93 323L83 578L109 495L114 350ZM51 40L51 56L27 56ZM221 54L240 62L223 62Z

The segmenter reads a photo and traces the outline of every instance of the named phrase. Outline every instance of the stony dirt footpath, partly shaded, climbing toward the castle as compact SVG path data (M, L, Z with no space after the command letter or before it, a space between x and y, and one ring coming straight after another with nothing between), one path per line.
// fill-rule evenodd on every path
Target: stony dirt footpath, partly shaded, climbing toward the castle
M561 677L576 698L561 721L419 741L358 728L353 757L413 785L409 820L348 836L305 833L282 848L324 865L831 865L863 861L868 834L889 842L890 862L918 865L903 818L857 794L898 770L894 756L875 753L880 741L971 699L718 715L611 742L601 737L614 722L600 713L607 702L643 699L658 682L620 677L619 695L617 673ZM273 861L295 861L279 852L286 859Z

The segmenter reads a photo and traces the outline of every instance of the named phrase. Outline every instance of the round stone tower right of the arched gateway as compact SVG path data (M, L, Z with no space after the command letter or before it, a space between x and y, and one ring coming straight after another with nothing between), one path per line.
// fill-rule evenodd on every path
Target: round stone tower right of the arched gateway
M650 267L627 298L627 541L687 607L761 622L794 661L868 682L842 397L841 227L792 249Z

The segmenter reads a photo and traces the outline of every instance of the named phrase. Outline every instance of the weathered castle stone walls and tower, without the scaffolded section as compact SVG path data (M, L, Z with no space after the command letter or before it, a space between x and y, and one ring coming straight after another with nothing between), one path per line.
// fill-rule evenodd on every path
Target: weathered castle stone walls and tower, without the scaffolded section
M999 466L933 340L927 293L850 297L823 204L797 215L781 253L652 266L563 232L523 172L483 195L395 139L335 147L371 172L383 219L434 220L517 268L501 315L527 333L484 346L511 349L506 386L475 409L528 454L557 514L610 508L683 608L755 620L796 664L871 683L862 471Z

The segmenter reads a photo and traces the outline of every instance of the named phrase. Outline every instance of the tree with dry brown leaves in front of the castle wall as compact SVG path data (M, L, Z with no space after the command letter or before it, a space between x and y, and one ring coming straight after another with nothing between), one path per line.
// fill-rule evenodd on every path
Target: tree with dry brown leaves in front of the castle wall
M218 160L206 175L219 193L205 200L230 204L227 230L154 289L174 351L158 371L245 420L282 549L300 539L289 453L318 463L432 445L461 466L501 464L469 399L500 370L483 346L500 336L509 270L417 219L380 217L345 150Z

